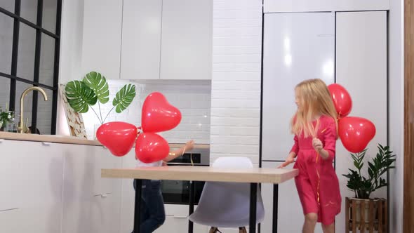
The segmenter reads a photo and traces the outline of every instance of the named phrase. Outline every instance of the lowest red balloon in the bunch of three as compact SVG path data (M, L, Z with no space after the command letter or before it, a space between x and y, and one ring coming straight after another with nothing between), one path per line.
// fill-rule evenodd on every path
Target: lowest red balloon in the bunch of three
M135 159L149 164L168 156L168 142L156 133L141 133L135 143Z

